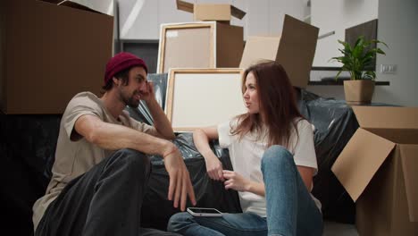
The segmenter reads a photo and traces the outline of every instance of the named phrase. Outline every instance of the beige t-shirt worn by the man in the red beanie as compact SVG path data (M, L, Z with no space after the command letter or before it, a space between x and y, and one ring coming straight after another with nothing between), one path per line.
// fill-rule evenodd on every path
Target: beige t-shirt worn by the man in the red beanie
M38 227L46 207L54 201L69 181L88 172L94 165L113 154L113 151L97 147L82 137L71 140L71 132L73 132L72 138L79 136L74 135L74 124L81 115L85 114L96 115L104 122L121 124L151 135L157 133L153 126L135 121L126 111L123 111L118 119L115 119L104 107L102 100L93 93L82 92L73 97L61 120L52 168L53 175L46 189L46 195L39 198L33 206L32 220L35 229Z

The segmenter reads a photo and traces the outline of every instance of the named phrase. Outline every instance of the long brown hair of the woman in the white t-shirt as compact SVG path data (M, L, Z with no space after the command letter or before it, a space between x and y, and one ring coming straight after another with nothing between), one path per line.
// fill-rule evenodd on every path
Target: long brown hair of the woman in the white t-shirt
M235 129L231 129L231 134L238 135L239 139L253 131L258 131L260 135L264 124L268 130L268 147L272 145L288 147L292 129L297 131L295 118L303 118L297 108L295 91L288 80L288 74L276 62L269 61L252 65L243 74L243 95L246 92L246 78L249 72L255 76L260 112L238 115L238 125Z

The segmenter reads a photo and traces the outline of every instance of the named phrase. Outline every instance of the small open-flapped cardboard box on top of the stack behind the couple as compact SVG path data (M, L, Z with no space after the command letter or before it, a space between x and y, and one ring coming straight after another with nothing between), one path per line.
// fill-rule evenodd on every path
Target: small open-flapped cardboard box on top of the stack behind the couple
M231 4L191 4L176 1L177 9L193 13L194 21L224 21L230 22L231 16L242 19L246 13Z

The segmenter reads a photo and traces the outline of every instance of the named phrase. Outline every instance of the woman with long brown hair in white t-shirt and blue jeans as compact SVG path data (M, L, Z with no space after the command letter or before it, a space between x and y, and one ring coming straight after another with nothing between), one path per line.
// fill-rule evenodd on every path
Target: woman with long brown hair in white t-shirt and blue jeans
M280 64L263 62L249 67L243 79L247 113L193 134L209 177L238 191L243 213L179 213L171 216L168 230L183 235L322 235L321 203L310 193L317 173L313 128L297 109L288 75ZM222 169L210 139L229 148L234 171Z

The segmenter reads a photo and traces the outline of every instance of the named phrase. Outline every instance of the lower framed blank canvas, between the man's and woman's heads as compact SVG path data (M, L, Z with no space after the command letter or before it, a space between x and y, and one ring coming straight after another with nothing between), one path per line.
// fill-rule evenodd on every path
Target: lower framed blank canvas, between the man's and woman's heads
M171 69L165 113L176 132L227 122L247 108L241 69Z

